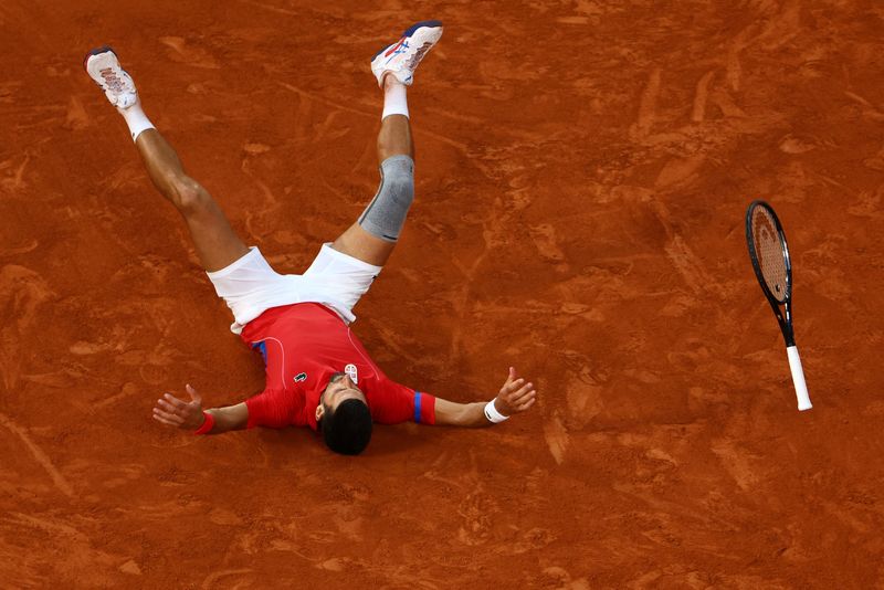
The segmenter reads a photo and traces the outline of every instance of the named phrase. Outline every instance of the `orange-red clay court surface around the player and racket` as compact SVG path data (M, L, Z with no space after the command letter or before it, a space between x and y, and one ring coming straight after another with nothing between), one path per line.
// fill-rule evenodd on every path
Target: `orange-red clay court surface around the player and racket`
M246 242L302 272L377 187L368 61L418 199L356 308L393 379L540 401L492 430L194 438L263 389L183 224L83 73L109 43ZM0 4L0 586L884 588L884 10L874 1ZM796 266L813 410L746 254Z

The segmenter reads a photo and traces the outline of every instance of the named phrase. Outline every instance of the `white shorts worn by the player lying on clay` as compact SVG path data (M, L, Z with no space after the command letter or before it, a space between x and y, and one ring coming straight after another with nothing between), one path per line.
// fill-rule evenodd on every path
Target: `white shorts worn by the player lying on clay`
M261 255L257 246L220 271L206 273L218 296L233 312L233 334L270 309L293 303L320 303L347 324L356 319L352 307L366 294L381 267L323 244L304 274L280 274Z

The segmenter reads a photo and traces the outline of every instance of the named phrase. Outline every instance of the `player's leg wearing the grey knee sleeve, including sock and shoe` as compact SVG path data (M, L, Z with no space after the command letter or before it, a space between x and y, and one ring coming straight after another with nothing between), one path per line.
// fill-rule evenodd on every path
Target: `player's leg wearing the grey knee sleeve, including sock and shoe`
M332 247L376 266L383 266L390 257L414 198L414 144L406 88L411 85L418 64L441 35L441 22L419 22L371 62L371 71L383 89L378 134L380 187L359 220Z

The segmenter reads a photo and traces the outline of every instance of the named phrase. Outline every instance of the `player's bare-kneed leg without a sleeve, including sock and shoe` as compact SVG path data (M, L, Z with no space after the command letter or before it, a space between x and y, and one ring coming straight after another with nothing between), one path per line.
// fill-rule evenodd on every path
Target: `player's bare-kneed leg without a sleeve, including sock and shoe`
M187 176L181 160L145 116L135 83L110 48L91 51L86 72L114 105L135 141L151 182L185 218L203 268L219 271L249 252L221 208L199 182Z

